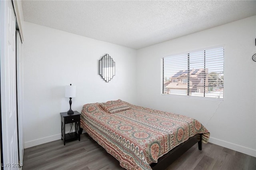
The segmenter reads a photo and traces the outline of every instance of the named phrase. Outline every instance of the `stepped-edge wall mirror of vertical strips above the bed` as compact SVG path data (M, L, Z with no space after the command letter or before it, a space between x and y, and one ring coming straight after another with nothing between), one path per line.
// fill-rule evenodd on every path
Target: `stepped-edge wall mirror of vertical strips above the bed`
M116 74L116 65L114 60L108 54L106 54L100 59L99 63L100 75L102 79L104 79L106 82L110 81Z

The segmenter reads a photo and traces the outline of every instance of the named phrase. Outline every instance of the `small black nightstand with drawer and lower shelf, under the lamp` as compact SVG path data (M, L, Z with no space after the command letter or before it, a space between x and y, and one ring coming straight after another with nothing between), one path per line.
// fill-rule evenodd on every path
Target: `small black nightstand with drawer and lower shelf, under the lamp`
M76 140L80 141L80 115L78 111L74 111L74 114L68 115L67 112L60 113L61 115L61 140L63 140L64 145L66 141ZM65 133L65 125L69 123L75 123L75 131L70 133Z

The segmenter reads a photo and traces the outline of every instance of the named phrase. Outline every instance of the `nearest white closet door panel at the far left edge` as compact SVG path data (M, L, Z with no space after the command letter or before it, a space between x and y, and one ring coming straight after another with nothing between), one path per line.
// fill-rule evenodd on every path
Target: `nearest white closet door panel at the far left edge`
M11 0L0 1L1 117L4 169L18 169L16 97L16 18Z

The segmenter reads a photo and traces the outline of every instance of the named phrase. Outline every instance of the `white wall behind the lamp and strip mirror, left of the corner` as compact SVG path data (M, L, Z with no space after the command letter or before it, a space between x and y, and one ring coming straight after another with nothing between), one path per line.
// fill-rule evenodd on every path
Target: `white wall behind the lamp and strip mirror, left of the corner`
M136 50L24 22L25 148L60 139L60 112L68 111L65 85L76 85L72 110L86 103L122 99L134 103ZM108 53L116 75L106 83L99 59Z

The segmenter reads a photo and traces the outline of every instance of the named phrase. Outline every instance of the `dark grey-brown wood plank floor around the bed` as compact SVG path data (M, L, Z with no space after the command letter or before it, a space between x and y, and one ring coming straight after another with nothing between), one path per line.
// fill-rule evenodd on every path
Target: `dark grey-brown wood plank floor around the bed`
M125 170L88 134L81 140L56 140L24 150L22 170ZM173 162L167 170L256 170L256 158L218 146L197 144Z

